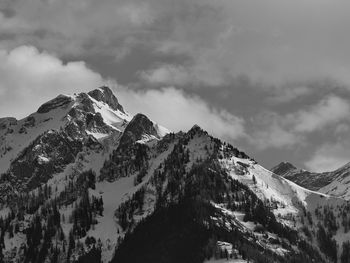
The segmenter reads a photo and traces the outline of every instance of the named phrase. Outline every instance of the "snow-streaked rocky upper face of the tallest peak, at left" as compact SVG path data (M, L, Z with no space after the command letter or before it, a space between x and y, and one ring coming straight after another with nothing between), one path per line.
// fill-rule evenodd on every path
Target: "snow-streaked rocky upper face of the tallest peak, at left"
M19 121L2 119L0 149L7 167L2 181L9 181L15 191L45 184L74 163L84 148L99 150L100 138L121 134L130 117L118 109L122 106L112 91L103 87L88 94L60 95Z

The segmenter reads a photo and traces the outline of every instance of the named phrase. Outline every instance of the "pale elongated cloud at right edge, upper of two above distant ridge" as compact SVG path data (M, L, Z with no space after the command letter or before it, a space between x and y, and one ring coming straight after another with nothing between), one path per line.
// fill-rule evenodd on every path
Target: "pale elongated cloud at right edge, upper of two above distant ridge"
M335 132L348 127L350 104L335 95L328 95L308 108L285 115L267 112L255 117L251 123L250 143L260 149L305 145L307 136L325 132L326 128Z

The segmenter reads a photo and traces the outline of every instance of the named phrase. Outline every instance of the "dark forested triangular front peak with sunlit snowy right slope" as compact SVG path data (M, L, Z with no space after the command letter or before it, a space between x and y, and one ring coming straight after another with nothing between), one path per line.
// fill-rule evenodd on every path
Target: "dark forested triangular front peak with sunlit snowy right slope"
M163 140L171 138L175 145L164 163L117 210L126 234L112 262L203 262L220 242L254 262L328 262L312 242L296 242L304 236L295 230L304 226L306 211L312 220L316 208L343 200L273 174L198 126Z

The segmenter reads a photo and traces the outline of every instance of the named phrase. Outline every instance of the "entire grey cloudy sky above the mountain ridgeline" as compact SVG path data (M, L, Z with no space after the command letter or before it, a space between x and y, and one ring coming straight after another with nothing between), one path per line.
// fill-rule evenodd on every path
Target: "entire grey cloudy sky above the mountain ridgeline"
M350 161L348 0L1 0L0 115L111 86L267 168Z

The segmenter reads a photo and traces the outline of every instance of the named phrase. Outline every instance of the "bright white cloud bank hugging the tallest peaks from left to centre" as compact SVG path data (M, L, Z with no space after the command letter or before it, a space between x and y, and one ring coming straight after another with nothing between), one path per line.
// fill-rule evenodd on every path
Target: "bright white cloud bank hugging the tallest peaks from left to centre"
M244 136L244 121L233 114L210 107L204 100L175 88L132 90L105 80L83 62L62 63L36 48L22 46L10 52L0 50L0 112L24 117L60 93L89 91L109 83L118 87L117 96L132 113L142 112L174 130L194 124L228 139ZM14 107L20 105L20 107Z

